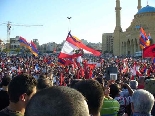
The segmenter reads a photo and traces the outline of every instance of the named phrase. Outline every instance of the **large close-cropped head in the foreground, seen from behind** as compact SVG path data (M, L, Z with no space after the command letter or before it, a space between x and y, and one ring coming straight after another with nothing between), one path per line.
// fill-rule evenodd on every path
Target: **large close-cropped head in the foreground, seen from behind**
M25 116L89 116L82 94L64 86L38 91L29 101Z

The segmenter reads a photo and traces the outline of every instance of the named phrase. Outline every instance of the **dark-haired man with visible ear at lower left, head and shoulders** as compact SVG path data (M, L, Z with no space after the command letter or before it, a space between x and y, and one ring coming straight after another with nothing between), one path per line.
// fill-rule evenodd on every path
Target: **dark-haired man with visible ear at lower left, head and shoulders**
M34 77L21 74L14 77L8 87L10 104L0 111L0 116L24 116L28 101L36 93Z

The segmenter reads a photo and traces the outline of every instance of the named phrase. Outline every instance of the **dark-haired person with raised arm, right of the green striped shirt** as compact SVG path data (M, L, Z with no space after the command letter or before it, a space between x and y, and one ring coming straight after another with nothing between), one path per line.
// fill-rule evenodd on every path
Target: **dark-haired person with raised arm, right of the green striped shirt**
M127 110L127 106L130 105L131 103L131 96L133 94L133 90L131 89L131 87L124 83L122 84L122 86L126 87L129 91L129 96L128 97L122 97L120 96L120 88L118 87L117 84L111 84L109 87L110 87L110 96L117 100L120 104L120 109L119 109L119 112L118 112L118 115L119 116L122 116L123 114L127 113L128 111Z

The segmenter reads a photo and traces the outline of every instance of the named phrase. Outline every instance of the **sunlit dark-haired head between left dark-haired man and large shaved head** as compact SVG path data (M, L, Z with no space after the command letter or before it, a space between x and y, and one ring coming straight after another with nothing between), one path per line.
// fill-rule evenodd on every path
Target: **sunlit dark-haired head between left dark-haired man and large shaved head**
M37 80L37 91L53 86L52 80L46 75L41 75Z

